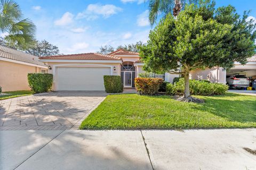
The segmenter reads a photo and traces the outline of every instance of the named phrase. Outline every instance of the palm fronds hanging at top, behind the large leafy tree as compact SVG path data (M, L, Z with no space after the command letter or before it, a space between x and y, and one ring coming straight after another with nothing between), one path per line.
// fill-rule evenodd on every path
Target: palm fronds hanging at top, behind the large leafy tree
M153 25L159 14L166 16L172 12L173 16L177 16L182 10L182 6L186 4L197 3L198 0L149 0L149 21Z

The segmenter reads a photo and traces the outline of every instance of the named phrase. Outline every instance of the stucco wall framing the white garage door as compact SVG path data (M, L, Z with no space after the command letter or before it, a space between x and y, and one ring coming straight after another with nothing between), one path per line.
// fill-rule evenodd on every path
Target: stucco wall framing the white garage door
M54 62L54 63L47 63L47 65L51 66L52 70L48 70L48 73L53 74L53 84L52 90L56 90L58 81L57 77L57 67L109 67L112 66L113 75L121 75L121 64L119 63L63 63L63 62ZM116 68L114 70L114 67ZM54 73L55 72L55 73Z

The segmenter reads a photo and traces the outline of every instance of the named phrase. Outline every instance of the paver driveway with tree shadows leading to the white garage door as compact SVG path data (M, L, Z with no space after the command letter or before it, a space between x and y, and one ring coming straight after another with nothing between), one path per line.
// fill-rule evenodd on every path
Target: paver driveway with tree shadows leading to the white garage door
M0 100L0 130L78 129L107 94L51 92Z

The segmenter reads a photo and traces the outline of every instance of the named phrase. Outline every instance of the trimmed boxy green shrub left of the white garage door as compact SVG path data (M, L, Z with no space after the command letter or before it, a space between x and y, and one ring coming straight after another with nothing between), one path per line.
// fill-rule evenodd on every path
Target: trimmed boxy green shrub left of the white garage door
M53 76L46 73L28 73L28 84L35 93L47 92L52 88Z

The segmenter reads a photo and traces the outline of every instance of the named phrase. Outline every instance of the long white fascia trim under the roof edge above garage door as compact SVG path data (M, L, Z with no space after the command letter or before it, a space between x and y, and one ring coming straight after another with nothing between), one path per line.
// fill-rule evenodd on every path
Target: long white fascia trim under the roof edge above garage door
M40 62L51 63L122 63L122 60L39 60Z

